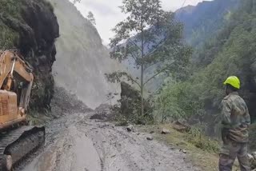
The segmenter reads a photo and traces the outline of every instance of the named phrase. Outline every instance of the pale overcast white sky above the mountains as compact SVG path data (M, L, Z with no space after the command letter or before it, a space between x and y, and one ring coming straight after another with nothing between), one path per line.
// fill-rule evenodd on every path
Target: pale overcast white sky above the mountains
M71 1L71 0L70 0ZM209 0L207 0L209 1ZM202 0L162 0L163 10L175 11L184 6L197 5ZM126 18L118 6L122 5L122 0L81 0L76 6L83 16L87 16L91 11L96 19L96 28L101 35L103 44L107 45L110 38L114 37L111 29Z

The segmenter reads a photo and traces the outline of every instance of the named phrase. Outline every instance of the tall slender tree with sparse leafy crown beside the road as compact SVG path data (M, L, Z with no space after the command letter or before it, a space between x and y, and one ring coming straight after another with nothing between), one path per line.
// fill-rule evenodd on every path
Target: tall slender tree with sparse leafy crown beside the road
M191 50L182 44L182 24L174 21L174 14L162 10L160 0L123 0L122 13L127 18L114 27L110 39L110 58L119 62L134 59L140 78L126 72L106 74L110 82L127 78L138 85L141 92L141 113L144 114L144 88L159 74L182 71L189 62ZM154 67L154 74L145 78L145 70Z

